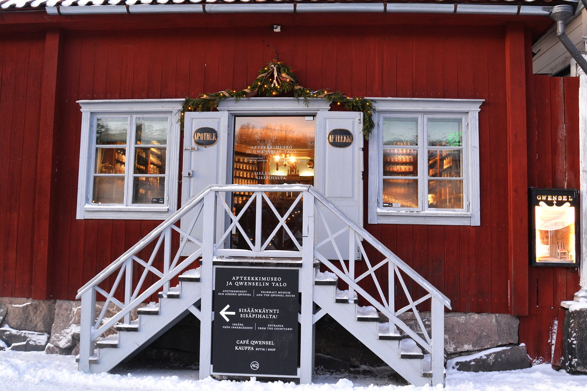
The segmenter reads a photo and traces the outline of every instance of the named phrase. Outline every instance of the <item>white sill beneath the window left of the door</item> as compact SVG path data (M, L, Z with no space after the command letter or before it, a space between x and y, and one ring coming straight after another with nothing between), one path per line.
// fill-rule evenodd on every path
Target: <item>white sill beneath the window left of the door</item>
M165 220L173 213L168 206L95 206L86 205L77 219Z

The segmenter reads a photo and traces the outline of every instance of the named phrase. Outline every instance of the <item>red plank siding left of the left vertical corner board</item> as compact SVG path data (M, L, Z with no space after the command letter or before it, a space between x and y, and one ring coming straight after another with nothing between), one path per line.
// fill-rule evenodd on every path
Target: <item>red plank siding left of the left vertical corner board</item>
M44 33L0 39L0 295L30 297ZM50 157L49 157L50 160Z

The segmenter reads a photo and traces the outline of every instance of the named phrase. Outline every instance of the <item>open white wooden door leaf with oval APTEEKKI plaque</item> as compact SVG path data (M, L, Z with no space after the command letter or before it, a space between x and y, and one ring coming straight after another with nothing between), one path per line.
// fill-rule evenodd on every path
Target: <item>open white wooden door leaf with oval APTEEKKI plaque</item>
M363 134L362 113L346 111L319 111L316 115L316 189L326 196L338 209L359 226L363 225ZM352 141L344 137L352 135ZM340 137L340 136L343 137ZM329 137L330 136L330 137ZM336 137L339 136L339 137ZM340 142L338 139L342 139ZM325 213L330 233L343 225L332 215ZM328 237L328 232L319 216L316 221L316 243ZM348 233L336 238L339 250L348 254ZM356 247L356 246L355 246ZM358 251L358 250L356 250ZM328 259L338 259L332 244L319 252ZM356 253L359 258L358 252Z

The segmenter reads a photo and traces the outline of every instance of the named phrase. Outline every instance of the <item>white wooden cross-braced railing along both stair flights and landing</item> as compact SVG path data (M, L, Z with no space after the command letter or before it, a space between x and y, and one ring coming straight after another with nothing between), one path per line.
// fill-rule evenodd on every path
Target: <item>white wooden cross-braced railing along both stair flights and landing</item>
M212 249L204 248L203 233L213 238L207 242L214 243ZM312 241L313 257L302 246L308 235L319 238ZM129 324L131 311L159 291L165 295L170 281L210 256L318 259L348 285L349 300L360 295L429 352L432 383L444 382L444 307L450 308L450 300L308 185L210 186L104 268L77 294L82 298L79 369L89 371L96 339L119 322ZM377 294L363 286L367 277ZM413 283L423 290L415 300ZM399 310L394 307L397 287L407 300ZM100 312L99 297L104 299ZM431 332L418 309L426 302ZM408 311L417 327L402 320Z

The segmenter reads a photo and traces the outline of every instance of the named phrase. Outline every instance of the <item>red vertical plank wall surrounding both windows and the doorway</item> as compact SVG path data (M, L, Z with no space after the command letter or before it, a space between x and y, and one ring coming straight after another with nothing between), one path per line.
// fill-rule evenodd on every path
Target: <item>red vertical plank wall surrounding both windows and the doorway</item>
M367 230L443 291L454 311L529 311L531 317L535 308L548 312L575 290L573 270L526 271L527 241L514 240L519 230L527 235L525 206L519 207L525 198L517 203L526 182L578 186L578 138L569 131L569 124L578 126L578 116L575 108L561 111L561 99L565 104L576 99L576 82L563 88L558 79L531 77L523 28L486 16L449 15L440 22L426 15L279 15L275 23L282 24L282 32L274 33L263 15L159 18L58 18L64 24L56 72L57 161L50 178L38 178L35 171L38 159L46 157L29 153L42 150L38 91L45 33L2 36L0 132L9 148L0 154L0 183L11 191L0 192L0 295L32 295L35 180L55 186L50 222L55 237L48 250L54 278L48 297L75 297L80 286L158 224L75 219L81 123L76 100L182 98L242 89L275 51L312 89L350 96L484 99L481 226L366 225ZM214 21L225 24L217 28ZM67 23L72 23L69 29ZM333 28L341 24L345 27ZM521 114L524 107L527 113ZM528 160L515 153L526 142ZM365 174L366 184L368 169Z

